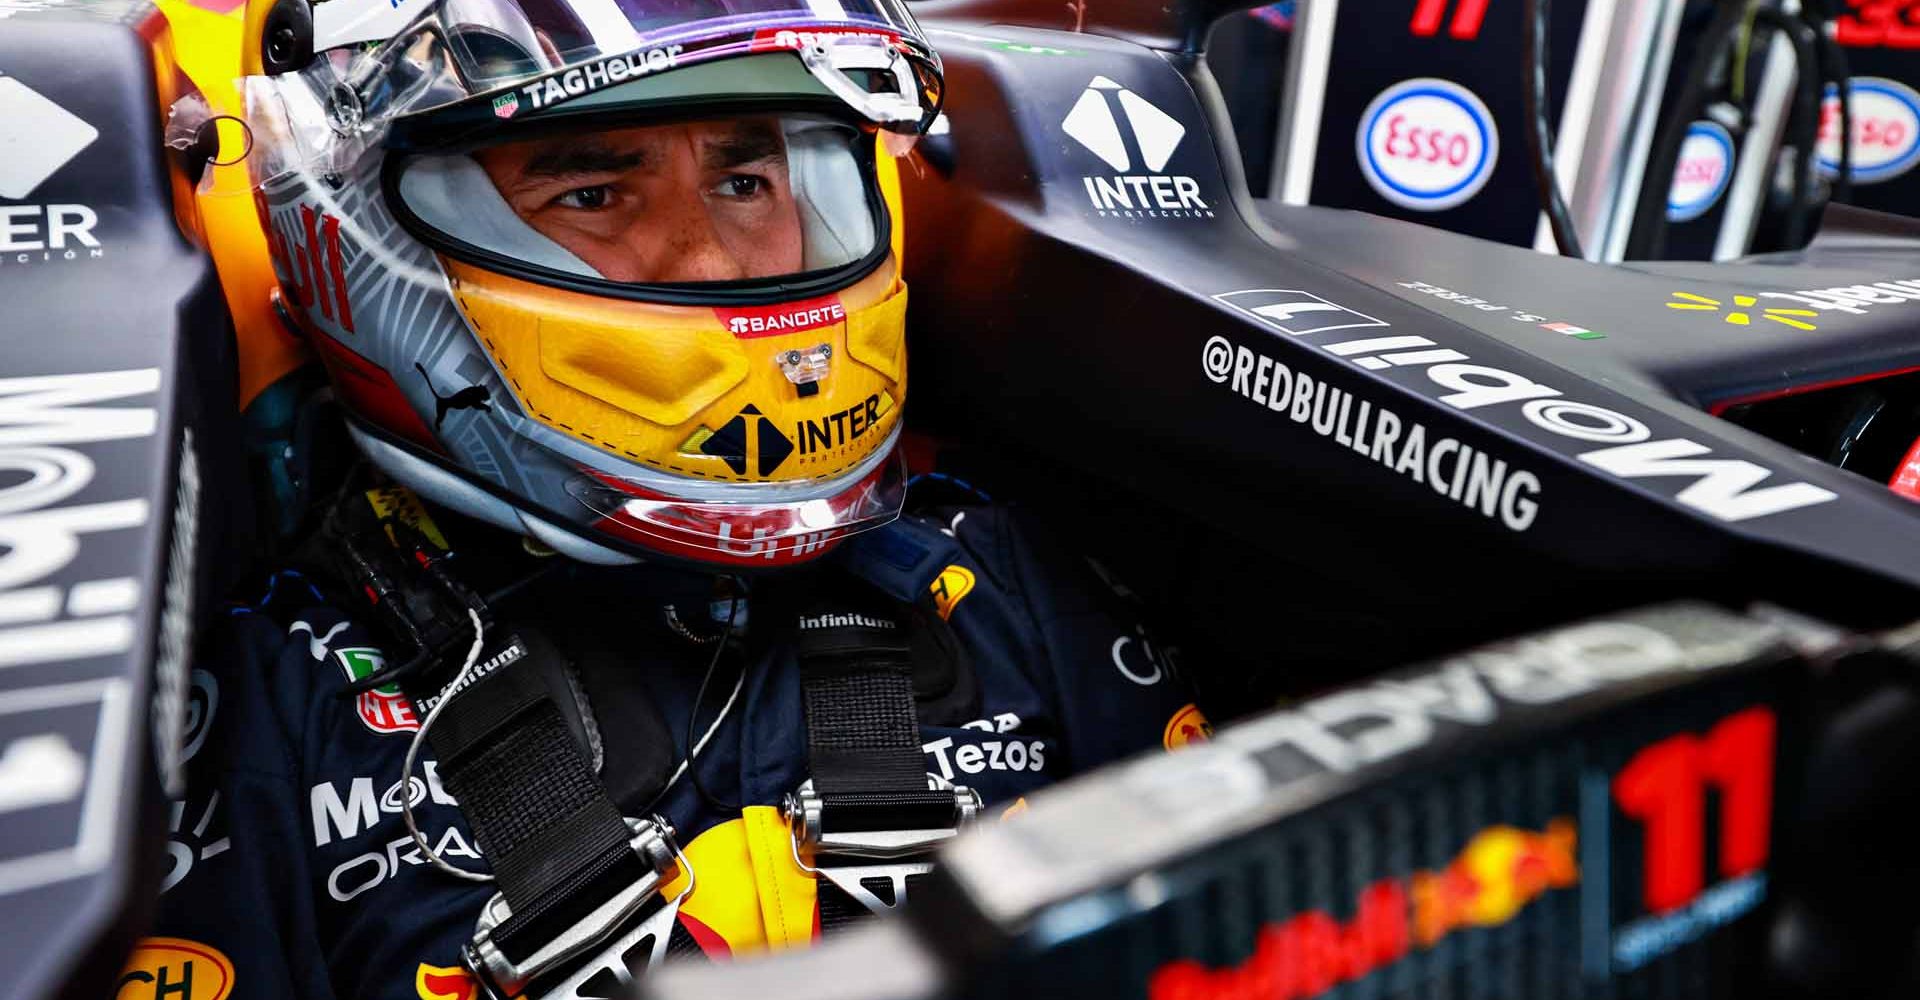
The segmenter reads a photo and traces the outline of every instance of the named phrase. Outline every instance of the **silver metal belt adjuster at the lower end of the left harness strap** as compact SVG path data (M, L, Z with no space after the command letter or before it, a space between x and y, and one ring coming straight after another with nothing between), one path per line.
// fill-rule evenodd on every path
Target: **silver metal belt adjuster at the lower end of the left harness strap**
M653 871L597 906L591 914L582 917L580 923L574 923L553 940L541 944L526 960L513 962L493 942L493 931L513 916L513 908L507 906L507 898L495 893L493 898L486 902L480 910L480 923L474 927L472 940L461 948L461 964L474 975L482 996L488 1000L520 996L534 979L551 973L553 969L614 937L614 933L634 919L634 914L637 914L647 900L660 893L660 887L674 881L680 871L685 871L685 889L614 942L618 952L624 954L628 948L653 933L653 962L660 960L666 952L666 931L670 929L674 916L680 912L680 904L693 893L693 866L687 864L685 854L680 852L680 843L674 841L674 827L666 820L659 816L651 816L647 820L628 818L626 825L634 831L628 846L643 862L651 864ZM591 975L595 971L599 971L597 965L589 965L572 979L584 979L584 975ZM561 983L553 992L568 996L568 987L574 985L572 979Z

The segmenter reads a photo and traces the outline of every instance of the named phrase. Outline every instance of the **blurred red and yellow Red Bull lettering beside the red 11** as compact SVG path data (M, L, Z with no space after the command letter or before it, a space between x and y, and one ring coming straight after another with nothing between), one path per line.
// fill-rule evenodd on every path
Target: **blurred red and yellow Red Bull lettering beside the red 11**
M1340 923L1308 910L1260 931L1254 954L1231 969L1177 960L1148 981L1150 1000L1308 1000L1354 983L1409 950L1432 948L1459 927L1498 927L1551 889L1580 881L1578 835L1559 818L1542 833L1498 825L1476 833L1440 871L1379 879Z

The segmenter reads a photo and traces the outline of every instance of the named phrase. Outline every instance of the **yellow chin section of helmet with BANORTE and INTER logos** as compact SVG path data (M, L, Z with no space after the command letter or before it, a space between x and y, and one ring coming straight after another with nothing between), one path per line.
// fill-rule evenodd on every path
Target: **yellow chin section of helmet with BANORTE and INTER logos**
M626 461L716 482L826 480L872 457L900 418L895 259L833 296L720 309L442 267L526 413Z

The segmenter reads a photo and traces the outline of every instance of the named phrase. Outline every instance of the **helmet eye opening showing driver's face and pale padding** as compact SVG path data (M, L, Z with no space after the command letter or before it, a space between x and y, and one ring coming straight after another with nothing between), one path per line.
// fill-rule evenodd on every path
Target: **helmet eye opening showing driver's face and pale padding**
M764 288L868 261L885 205L874 136L820 115L566 123L396 163L424 242L532 278Z

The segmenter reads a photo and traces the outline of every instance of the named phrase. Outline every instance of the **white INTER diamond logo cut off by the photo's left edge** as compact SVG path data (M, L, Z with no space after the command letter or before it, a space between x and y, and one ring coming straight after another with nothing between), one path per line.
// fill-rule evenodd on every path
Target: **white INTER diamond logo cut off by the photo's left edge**
M38 90L0 77L0 198L25 200L100 131ZM86 205L0 205L0 265L104 257Z

